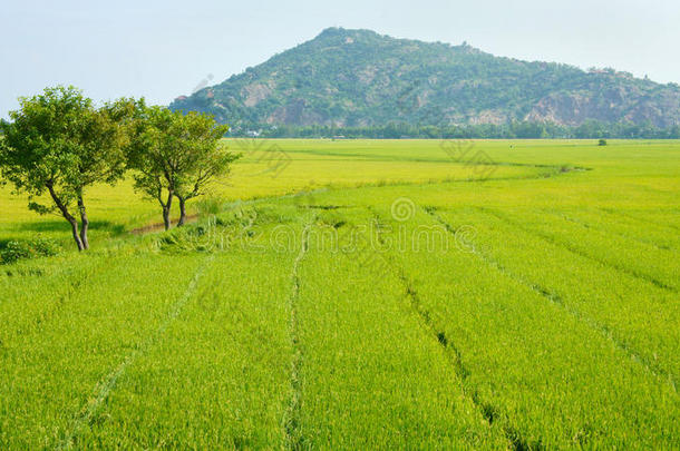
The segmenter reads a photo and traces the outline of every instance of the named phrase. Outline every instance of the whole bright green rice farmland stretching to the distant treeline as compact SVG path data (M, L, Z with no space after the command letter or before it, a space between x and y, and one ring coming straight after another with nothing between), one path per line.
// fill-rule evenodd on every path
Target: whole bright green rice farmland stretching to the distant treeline
M679 445L679 141L227 145L87 253L0 188L1 449Z

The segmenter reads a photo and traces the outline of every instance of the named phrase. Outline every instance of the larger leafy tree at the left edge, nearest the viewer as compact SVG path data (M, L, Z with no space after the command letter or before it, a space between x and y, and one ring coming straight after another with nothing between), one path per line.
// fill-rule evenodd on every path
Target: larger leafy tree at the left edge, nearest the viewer
M86 189L97 183L115 184L125 170L126 134L106 108L72 86L46 88L41 95L20 98L10 121L0 122L0 174L28 193L29 208L47 214L59 210L71 226L79 251L89 248ZM51 203L40 204L49 193ZM80 216L74 216L74 204Z

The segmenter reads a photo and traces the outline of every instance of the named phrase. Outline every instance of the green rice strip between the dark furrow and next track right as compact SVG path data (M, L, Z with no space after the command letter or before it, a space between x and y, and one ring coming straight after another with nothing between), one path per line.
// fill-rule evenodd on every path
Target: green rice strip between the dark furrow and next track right
M387 220L388 212L381 217ZM420 252L408 246L395 256L435 327L456 343L468 383L494 412L494 424L534 448L638 447L678 432L678 394L668 381L474 253L422 252L428 237L412 231L431 223L428 217L418 213L416 224L392 223L424 241Z

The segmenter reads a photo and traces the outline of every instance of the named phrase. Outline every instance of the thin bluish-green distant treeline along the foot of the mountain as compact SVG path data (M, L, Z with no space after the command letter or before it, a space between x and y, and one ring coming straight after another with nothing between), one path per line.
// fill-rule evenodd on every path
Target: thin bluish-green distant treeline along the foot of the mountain
M657 128L651 124L605 124L587 121L577 127L550 122L508 122L503 125L418 126L392 122L376 127L331 126L252 126L235 127L232 136L259 136L261 138L369 138L369 139L680 139L680 126Z

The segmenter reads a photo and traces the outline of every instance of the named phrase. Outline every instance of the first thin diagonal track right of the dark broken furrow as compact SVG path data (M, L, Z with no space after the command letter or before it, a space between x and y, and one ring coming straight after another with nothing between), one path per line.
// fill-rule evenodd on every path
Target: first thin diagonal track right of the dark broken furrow
M439 224L441 224L450 234L453 234L453 235L456 234L456 229L450 224L448 224L446 220L444 220L439 215L437 215L437 213L435 212L434 208L426 208L425 210L435 220L437 220ZM507 277L512 278L513 281L519 283L521 285L524 285L524 286L531 288L532 291L540 294L545 300L547 300L551 303L563 308L566 313L569 313L571 316L573 316L577 321L584 323L590 329L598 332L601 336L603 336L605 340L608 340L610 343L612 343L612 345L614 345L618 350L622 351L625 355L628 355L633 362L640 364L650 374L652 374L659 379L662 379L662 380L667 379L669 384L673 389L673 392L677 392L676 379L674 379L673 374L671 374L663 367L660 367L653 361L650 361L649 359L644 357L642 354L640 354L637 350L634 350L629 344L616 339L606 325L604 325L604 324L600 323L599 321L596 321L587 315L584 315L580 311L571 307L569 305L569 303L564 302L564 300L560 295L553 293L550 288L546 288L540 284L526 281L524 277L516 275L512 271L507 269L507 267L503 266L498 261L489 257L488 255L485 255L485 254L478 252L477 249L472 249L472 253L474 255L476 255L479 259L482 259L484 263L486 263L488 266L492 266L496 271L503 273L504 275L506 275Z

